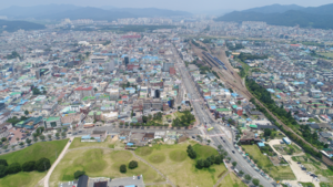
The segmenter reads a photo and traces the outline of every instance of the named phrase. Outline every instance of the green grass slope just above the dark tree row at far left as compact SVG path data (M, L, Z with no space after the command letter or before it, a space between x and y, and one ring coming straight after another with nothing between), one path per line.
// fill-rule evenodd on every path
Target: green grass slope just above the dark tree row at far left
M8 164L23 164L26 162L38 160L46 157L49 158L52 164L56 160L56 154L59 156L67 143L68 139L39 142L21 150L0 155L0 159L7 159Z

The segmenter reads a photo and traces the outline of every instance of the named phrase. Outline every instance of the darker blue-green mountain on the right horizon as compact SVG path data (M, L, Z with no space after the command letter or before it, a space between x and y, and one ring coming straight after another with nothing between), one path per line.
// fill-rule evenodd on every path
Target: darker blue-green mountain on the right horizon
M321 7L272 4L261 8L233 11L215 21L264 21L273 25L300 25L302 28L333 29L333 3Z

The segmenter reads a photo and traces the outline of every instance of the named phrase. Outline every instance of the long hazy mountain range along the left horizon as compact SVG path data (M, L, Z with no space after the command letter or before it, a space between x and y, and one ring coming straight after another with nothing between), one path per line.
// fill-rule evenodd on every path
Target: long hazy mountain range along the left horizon
M93 19L113 21L121 18L176 17L191 15L191 13L155 8L118 9L114 7L92 8L72 4L47 4L36 7L10 7L0 10L0 15L7 15L9 19L61 20L69 18L72 20Z

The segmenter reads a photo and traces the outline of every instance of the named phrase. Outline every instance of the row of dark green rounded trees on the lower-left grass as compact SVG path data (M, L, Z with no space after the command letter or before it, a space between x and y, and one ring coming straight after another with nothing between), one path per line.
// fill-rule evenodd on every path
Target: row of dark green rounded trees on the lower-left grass
M4 177L9 174L17 174L19 172L46 172L51 167L50 159L48 158L40 158L39 160L30 160L26 162L23 165L20 163L12 163L8 165L6 159L0 159L0 177Z

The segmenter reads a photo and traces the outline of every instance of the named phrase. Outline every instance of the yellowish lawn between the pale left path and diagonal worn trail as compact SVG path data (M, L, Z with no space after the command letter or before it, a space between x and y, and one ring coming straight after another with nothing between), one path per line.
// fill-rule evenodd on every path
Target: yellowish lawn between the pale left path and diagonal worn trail
M128 165L131 160L137 160L139 167L129 169L125 174L119 172L122 164ZM144 183L160 183L164 179L144 163L135 159L129 150L110 150L102 148L74 149L65 154L56 167L51 178L51 186L57 186L59 181L73 179L77 170L84 170L89 177L125 177L143 175Z

